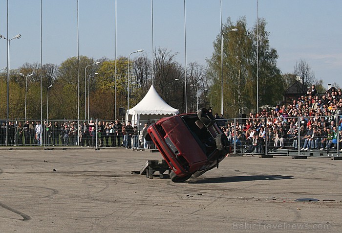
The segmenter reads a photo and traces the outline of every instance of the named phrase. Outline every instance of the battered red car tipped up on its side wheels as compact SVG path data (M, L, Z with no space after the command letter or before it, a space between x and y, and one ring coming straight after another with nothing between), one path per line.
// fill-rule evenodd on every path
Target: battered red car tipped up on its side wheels
M226 135L205 108L197 113L162 118L143 135L155 143L169 164L173 182L183 182L218 167L231 152Z

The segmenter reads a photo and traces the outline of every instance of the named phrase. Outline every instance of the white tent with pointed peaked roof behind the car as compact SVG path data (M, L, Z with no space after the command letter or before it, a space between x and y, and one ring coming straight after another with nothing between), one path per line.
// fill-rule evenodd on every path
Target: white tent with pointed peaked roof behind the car
M127 110L126 121L131 120L133 124L138 124L139 120L161 119L178 113L179 110L167 104L151 85L145 97L133 108Z

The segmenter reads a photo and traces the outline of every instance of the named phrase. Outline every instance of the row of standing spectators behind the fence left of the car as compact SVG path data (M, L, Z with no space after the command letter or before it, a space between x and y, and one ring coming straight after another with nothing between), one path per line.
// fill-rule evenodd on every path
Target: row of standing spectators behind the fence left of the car
M145 124L147 127L147 124ZM7 137L6 137L7 134ZM0 145L9 146L81 146L81 147L126 147L139 148L140 144L148 147L148 141L142 138L142 133L136 124L128 121L77 121L43 122L40 121L9 121L2 122L0 127Z

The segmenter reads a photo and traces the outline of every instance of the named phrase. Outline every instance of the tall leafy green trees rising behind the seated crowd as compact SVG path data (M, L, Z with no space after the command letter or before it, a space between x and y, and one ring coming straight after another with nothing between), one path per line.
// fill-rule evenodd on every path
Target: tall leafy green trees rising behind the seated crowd
M280 70L277 68L278 54L269 46L265 20L259 21L259 104L275 102L282 98ZM237 28L223 37L223 109L226 117L256 110L257 87L257 34L256 25L247 29L246 18L223 25L223 31ZM208 60L207 76L211 79L210 92L214 111L219 112L221 104L221 34L214 41L214 52Z

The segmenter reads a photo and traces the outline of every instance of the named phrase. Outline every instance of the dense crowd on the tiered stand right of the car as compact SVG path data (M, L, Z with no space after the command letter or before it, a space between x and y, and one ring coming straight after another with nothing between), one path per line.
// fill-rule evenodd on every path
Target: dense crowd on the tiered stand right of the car
M277 105L269 111L250 113L235 125L228 120L222 129L232 143L247 148L246 153L264 153L265 148L277 151L285 147L301 150L339 148L342 151L341 114L341 89L331 88L319 95L313 85L306 95L287 106Z

